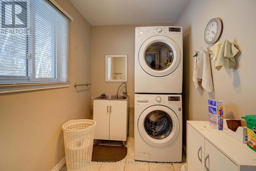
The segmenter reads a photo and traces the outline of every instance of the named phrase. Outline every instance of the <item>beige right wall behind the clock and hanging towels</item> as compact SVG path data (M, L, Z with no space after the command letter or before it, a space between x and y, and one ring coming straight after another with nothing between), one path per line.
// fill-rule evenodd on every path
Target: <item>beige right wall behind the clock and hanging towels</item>
M211 61L215 90L211 93L196 90L192 81L193 55L200 47L206 48L204 29L211 18L220 17L223 33L220 41L228 39L238 45L241 54L237 56L235 70L222 68L217 71ZM225 117L241 118L255 115L256 95L256 1L188 1L176 26L184 30L184 114L187 120L208 120L207 99L224 100Z

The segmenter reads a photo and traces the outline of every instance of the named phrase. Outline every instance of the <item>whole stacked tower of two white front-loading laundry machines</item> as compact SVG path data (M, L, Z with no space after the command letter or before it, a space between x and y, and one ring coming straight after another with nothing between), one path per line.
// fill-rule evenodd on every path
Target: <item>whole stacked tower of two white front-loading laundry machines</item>
M182 28L135 31L135 160L182 158Z

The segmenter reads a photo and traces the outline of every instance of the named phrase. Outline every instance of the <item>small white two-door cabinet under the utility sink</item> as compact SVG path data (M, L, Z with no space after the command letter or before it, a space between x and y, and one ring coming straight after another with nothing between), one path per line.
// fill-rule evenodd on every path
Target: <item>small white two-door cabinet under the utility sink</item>
M93 100L94 139L126 141L127 100Z

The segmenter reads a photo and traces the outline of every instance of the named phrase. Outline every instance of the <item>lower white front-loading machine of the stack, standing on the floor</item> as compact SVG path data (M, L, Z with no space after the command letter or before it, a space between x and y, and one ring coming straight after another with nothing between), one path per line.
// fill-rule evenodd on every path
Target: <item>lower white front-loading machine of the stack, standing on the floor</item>
M134 127L135 160L181 161L181 95L135 94Z

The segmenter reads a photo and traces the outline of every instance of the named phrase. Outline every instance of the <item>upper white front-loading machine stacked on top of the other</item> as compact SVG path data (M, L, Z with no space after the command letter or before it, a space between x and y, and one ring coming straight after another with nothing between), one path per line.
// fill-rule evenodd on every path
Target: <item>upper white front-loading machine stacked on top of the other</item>
M182 93L181 27L135 29L135 93Z

